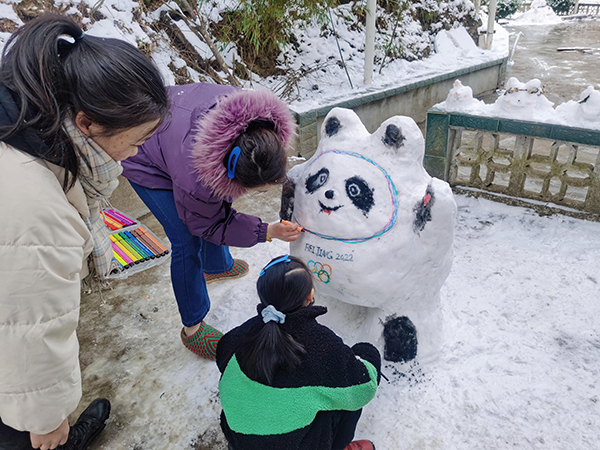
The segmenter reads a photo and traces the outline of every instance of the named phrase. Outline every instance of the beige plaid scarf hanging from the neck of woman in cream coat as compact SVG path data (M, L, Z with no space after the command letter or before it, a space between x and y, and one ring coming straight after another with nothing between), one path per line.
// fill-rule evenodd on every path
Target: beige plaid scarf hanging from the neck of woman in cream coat
M83 187L90 209L90 217L83 217L83 219L94 242L91 273L94 273L95 269L95 273L100 278L106 278L116 263L113 261L113 249L108 237L108 228L100 216L100 210L119 185L117 178L123 172L123 168L91 138L83 134L72 120L65 120L64 127L71 137L71 141L84 157L79 158L79 182Z

